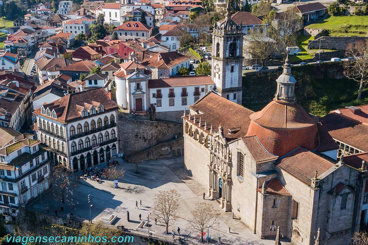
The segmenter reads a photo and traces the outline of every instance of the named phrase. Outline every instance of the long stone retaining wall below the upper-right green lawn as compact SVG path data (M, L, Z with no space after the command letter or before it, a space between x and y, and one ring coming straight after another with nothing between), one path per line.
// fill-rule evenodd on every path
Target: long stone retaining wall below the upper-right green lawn
M308 49L319 49L319 40L321 39L321 49L342 50L346 49L349 43L358 41L367 41L363 36L322 36L315 40L308 41ZM323 40L324 39L324 40Z

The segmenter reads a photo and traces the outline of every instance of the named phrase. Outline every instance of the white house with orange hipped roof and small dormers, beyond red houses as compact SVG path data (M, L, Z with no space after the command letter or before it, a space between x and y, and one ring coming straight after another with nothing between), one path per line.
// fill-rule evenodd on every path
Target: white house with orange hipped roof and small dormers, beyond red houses
M139 21L127 21L114 29L120 38L141 38L146 40L151 37L153 27Z

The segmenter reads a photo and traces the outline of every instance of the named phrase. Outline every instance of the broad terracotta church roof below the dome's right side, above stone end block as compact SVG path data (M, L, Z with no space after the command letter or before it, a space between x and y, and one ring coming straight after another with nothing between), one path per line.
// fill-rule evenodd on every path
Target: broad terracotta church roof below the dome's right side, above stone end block
M334 163L305 149L297 148L286 156L276 161L277 167L285 170L306 185L311 184L317 170L317 177L331 167Z

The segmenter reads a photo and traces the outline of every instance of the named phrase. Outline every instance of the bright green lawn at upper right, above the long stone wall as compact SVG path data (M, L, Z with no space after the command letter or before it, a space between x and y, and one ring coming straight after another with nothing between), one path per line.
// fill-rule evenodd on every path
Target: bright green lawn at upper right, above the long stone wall
M323 28L330 32L330 36L366 36L368 16L330 16L306 28Z

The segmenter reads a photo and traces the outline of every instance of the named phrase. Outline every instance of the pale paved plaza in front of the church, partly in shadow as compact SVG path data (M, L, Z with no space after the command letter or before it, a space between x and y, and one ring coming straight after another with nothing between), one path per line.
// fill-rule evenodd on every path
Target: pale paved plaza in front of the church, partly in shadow
M138 166L139 173L136 174L135 164L125 163L118 159L119 167L125 170L123 178L119 179L119 189L111 188L113 181L102 180L99 183L91 180L82 180L79 187L66 195L66 202L56 200L50 193L42 197L32 205L37 211L46 212L46 204L49 206L50 214L54 215L54 209L60 210L64 206L64 214L73 213L76 217L89 219L88 194L92 195L92 220L98 221L102 217L109 217L110 214L116 214L115 226L124 226L129 230L135 230L140 223L139 214L142 220L146 220L150 208L155 202L155 194L160 190L176 189L181 194L181 206L178 212L180 217L176 223L169 227L169 232L180 227L183 244L201 244L199 232L193 230L187 220L191 218L191 210L199 202L208 202L220 213L219 224L210 228L209 236L212 238L212 244L221 237L221 244L229 245L273 245L274 240L262 240L256 234L253 234L247 226L240 220L232 219L231 212L223 212L219 203L215 200L202 199L203 192L208 195L208 191L199 185L195 180L188 176L184 170L184 158L178 157L166 160L144 161ZM106 167L106 164L99 164L99 168ZM135 208L135 201L142 200L142 206ZM74 210L72 210L74 205ZM42 207L42 209L41 209ZM127 213L130 213L130 222L127 221ZM58 214L60 212L58 211ZM166 234L166 227L162 223L157 223L150 217L151 232L156 235L169 236ZM230 233L228 233L230 227ZM207 232L207 231L206 231ZM178 234L176 234L178 238ZM282 244L289 244L282 242Z

